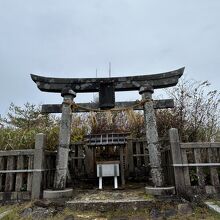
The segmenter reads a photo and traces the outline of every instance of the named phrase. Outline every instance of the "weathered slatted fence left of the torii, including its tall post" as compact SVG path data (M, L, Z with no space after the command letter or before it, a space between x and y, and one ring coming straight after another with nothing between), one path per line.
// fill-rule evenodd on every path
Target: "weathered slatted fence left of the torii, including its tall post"
M54 182L56 152L45 151L45 135L35 149L0 151L0 201L39 199Z

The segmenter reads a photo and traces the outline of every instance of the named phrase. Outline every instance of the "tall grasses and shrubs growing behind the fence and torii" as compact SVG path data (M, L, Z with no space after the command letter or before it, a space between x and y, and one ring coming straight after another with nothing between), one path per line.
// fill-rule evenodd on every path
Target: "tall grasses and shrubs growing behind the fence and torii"
M173 109L156 110L158 133L167 136L171 127L178 128L182 141L215 141L220 134L220 93L211 90L207 81L182 80L165 90L174 99ZM35 135L47 135L47 148L58 145L60 117L41 114L40 106L11 103L8 114L0 119L0 149L34 148ZM120 112L91 112L73 114L71 141L83 140L90 133L129 132L144 137L144 115L131 109Z

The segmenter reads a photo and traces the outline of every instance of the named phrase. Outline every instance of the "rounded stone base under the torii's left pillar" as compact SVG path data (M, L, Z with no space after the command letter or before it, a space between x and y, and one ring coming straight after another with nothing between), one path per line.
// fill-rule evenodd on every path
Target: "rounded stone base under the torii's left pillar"
M44 199L59 199L59 198L70 198L72 197L73 189L63 189L63 190L44 190Z

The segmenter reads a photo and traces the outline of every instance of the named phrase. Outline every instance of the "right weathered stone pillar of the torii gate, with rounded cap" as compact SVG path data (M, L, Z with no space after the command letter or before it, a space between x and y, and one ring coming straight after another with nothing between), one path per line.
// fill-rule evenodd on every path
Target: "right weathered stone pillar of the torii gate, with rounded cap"
M153 92L153 87L150 85L141 87L139 90L139 93L142 95L143 101L146 101L144 104L144 118L152 180L154 186L161 187L164 185L164 176L161 167L160 144L152 100Z

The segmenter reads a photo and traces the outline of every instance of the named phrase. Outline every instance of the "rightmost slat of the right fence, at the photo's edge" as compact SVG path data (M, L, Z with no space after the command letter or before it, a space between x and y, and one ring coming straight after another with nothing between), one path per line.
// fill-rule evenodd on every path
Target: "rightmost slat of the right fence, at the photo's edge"
M216 148L208 149L208 161L210 163L218 162L217 156L218 154L217 154ZM219 176L218 176L218 171L216 167L210 167L210 177L211 177L212 185L219 186Z

